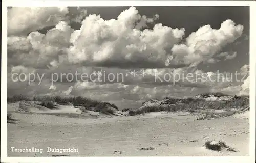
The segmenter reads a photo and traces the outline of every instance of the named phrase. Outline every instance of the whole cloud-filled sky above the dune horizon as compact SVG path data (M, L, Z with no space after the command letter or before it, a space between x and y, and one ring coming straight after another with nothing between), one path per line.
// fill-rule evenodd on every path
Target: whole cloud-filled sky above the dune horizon
M8 8L8 96L138 107L166 96L248 95L248 72L249 7Z

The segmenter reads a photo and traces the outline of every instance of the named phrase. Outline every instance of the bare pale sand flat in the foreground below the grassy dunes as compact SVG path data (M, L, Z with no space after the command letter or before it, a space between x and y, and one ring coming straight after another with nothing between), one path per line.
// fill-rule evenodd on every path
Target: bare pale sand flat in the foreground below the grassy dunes
M8 156L248 156L249 113L212 120L196 120L188 113L149 113L133 117L80 114L72 106L60 110L16 113L8 105ZM91 115L90 115L91 114ZM206 140L222 140L237 150L211 151ZM152 147L153 150L140 150ZM41 148L40 152L12 152ZM47 152L77 148L78 152Z

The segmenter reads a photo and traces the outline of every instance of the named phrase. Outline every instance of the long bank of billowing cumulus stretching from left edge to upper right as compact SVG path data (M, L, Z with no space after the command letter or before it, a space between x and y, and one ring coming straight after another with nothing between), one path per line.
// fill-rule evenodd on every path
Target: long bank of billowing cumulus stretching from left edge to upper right
M31 32L27 37L9 37L9 58L14 65L19 59L24 66L36 63L34 66L41 68L61 62L120 68L179 68L203 61L219 62L212 57L243 32L242 25L226 20L218 30L202 26L186 38L185 44L179 44L185 34L183 28L173 29L158 23L153 29L141 30L158 18L157 14L153 18L141 16L135 7L130 7L117 19L88 15L75 31L67 22L59 21L46 34ZM226 55L225 60L236 55L236 52Z

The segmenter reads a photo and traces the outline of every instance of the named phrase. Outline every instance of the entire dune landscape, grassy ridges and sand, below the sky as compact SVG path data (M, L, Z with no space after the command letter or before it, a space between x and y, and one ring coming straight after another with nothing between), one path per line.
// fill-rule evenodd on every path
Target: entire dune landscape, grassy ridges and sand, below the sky
M75 105L9 101L8 156L56 155L13 153L13 146L79 151L58 154L65 156L247 156L249 98L230 96L225 102L202 98L151 99L135 110L123 111L108 102L90 100Z

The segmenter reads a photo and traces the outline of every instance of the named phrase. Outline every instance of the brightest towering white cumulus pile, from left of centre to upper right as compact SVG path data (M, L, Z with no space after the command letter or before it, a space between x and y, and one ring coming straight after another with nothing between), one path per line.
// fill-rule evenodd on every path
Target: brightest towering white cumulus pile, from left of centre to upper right
M153 30L140 31L136 29L136 22L142 20L145 23L154 21L141 17L134 7L123 11L117 20L89 15L83 20L81 29L72 33L69 61L96 65L119 63L118 66L128 67L136 63L141 63L142 67L146 67L146 63L155 67L184 67L191 63L214 62L211 58L243 32L242 25L226 20L220 29L205 25L191 33L186 44L178 44L184 36L184 29L172 29L159 23ZM236 52L227 54L225 60L236 56Z

